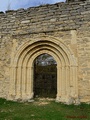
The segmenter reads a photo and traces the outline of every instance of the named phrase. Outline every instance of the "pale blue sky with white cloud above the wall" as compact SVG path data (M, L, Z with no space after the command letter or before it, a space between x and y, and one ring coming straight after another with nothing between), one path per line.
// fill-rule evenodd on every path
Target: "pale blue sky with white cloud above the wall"
M40 4L54 4L64 2L65 0L0 0L0 11L17 10L20 8L29 8Z

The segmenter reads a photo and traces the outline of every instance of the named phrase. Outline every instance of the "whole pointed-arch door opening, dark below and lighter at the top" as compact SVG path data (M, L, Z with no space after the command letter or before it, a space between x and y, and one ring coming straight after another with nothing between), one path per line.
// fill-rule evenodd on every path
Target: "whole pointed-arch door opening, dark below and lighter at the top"
M49 54L42 54L34 60L34 97L56 98L57 63Z

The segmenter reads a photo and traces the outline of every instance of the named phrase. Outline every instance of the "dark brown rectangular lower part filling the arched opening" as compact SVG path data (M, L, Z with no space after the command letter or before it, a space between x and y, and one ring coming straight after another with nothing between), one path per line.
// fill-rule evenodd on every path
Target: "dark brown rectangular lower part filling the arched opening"
M55 98L57 94L56 64L34 65L34 95L35 97Z

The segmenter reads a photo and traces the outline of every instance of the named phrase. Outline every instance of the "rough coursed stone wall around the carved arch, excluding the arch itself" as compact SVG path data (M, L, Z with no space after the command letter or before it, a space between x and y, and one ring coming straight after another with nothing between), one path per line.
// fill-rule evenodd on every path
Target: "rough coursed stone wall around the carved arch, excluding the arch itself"
M7 98L14 52L31 38L60 38L78 63L81 102L90 102L90 2L57 3L0 12L0 97Z

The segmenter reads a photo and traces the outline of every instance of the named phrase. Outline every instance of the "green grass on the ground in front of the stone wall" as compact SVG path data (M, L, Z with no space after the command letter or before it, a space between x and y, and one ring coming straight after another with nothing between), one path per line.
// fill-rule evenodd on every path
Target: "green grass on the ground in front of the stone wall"
M0 99L0 120L90 120L90 105L64 105L36 100L18 103Z

